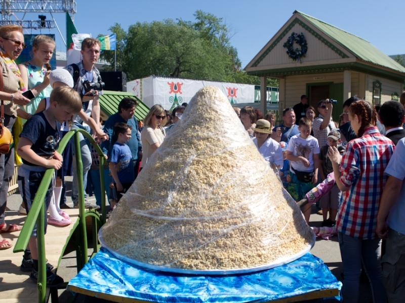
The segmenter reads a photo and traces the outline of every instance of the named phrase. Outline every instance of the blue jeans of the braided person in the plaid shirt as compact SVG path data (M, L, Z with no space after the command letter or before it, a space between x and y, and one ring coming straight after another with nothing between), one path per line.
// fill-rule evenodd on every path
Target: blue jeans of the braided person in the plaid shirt
M374 303L386 303L387 293L382 283L381 239L355 239L338 232L342 256L344 281L342 297L344 303L357 303L361 263L369 277Z

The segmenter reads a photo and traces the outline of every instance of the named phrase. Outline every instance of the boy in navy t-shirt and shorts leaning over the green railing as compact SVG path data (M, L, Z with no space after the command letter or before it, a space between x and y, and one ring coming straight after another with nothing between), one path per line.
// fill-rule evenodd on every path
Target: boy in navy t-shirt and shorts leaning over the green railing
M82 109L79 94L70 87L61 86L51 93L50 107L45 111L33 115L24 125L20 134L17 154L22 158L23 165L18 170L18 187L27 213L31 209L32 201L47 169L58 170L62 166L62 156L56 151L60 141L60 127L72 115ZM46 209L48 209L53 188L50 184L46 193ZM47 213L45 213L45 232L47 228ZM38 249L36 243L36 225L24 252L24 260L32 258L32 272L30 278L38 278ZM63 279L47 269L47 286L57 287L63 284Z

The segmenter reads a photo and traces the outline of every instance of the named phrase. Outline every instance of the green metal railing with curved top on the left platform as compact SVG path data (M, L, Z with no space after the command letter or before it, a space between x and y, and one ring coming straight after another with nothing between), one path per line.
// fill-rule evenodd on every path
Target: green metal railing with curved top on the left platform
M76 169L77 176L83 176L83 163L82 163L82 154L80 153L80 139L79 133L82 133L86 137L93 147L96 149L97 154L100 160L100 185L101 185L101 218L98 213L95 212L86 212L85 211L85 196L84 196L84 185L83 178L78 177L77 187L78 187L78 198L79 198L79 241L81 253L80 256L77 256L77 271L83 268L83 266L88 262L88 243L87 243L87 231L86 231L86 217L92 216L93 218L93 236L95 241L93 242L95 252L98 251L97 244L97 220L100 220L100 225L105 223L106 219L106 210L105 210L105 187L104 187L104 155L101 151L100 146L95 142L91 134L83 129L74 129L69 131L66 135L63 136L61 142L59 143L58 153L62 154L65 149L68 141L71 137L74 136L74 155L76 156ZM45 196L49 188L49 184L52 181L53 174L55 169L50 168L45 172L44 178L39 185L39 188L35 194L34 200L32 202L31 209L25 219L23 228L20 232L20 235L17 239L17 243L14 247L14 252L24 251L28 245L29 238L31 236L32 230L36 222L37 229L37 245L38 245L38 302L46 302L46 279L47 279L47 269L46 269L46 251L45 251ZM77 250L76 250L77 251Z

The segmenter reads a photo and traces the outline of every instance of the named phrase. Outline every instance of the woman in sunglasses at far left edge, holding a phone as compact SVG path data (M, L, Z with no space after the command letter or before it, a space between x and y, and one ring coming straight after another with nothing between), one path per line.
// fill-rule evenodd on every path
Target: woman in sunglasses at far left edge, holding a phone
M0 99L4 101L3 126L12 130L17 116L27 118L28 113L19 109L19 106L28 104L29 99L21 94L24 83L15 59L20 56L24 44L22 28L17 25L4 25L0 27L0 65L2 69ZM7 194L10 179L14 174L14 148L7 155L0 157L0 229L1 232L13 232L21 229L15 224L6 224L4 212L7 204ZM2 247L11 247L11 244L2 240ZM4 249L4 248L3 248Z

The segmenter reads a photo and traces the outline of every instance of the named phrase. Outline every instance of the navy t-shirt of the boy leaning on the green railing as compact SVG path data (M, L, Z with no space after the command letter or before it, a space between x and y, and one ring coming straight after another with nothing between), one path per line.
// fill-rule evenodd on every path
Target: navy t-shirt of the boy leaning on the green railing
M31 149L41 157L51 157L59 147L60 123L55 121L55 128L49 124L44 112L33 115L25 122L20 138L29 139L33 144ZM22 159L27 165L37 166Z

